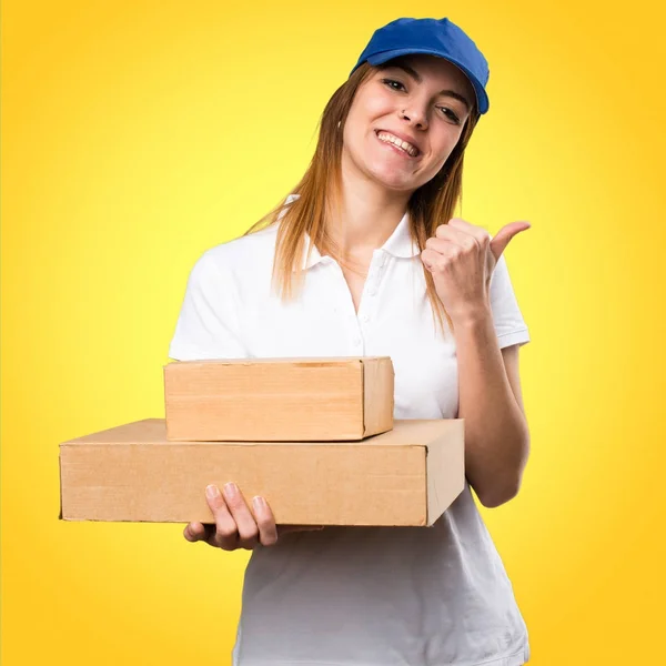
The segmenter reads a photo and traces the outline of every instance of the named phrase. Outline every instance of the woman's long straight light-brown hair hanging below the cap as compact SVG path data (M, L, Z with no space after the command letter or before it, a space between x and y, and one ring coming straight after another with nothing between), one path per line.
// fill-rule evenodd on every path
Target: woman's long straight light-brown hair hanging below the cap
M304 279L303 258L306 234L317 249L327 245L326 219L330 205L337 200L342 190L342 131L356 91L376 68L363 63L329 100L320 120L319 140L314 155L305 174L293 188L300 196L285 205L280 203L246 233L250 234L270 224L280 222L273 262L273 284L284 300L293 299ZM438 173L418 188L410 198L407 212L410 233L418 249L425 249L428 238L435 235L440 224L446 224L454 216L455 206L462 195L463 160L465 148L478 122L474 104L463 128L461 138ZM440 329L442 316L452 327L451 317L437 296L430 271L424 266L426 293Z

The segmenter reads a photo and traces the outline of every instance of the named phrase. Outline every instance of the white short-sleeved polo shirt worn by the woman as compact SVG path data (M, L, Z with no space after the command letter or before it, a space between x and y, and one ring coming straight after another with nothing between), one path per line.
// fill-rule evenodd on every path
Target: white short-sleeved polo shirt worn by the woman
M287 199L287 202L293 195ZM313 249L302 296L271 289L276 226L205 252L174 360L391 356L395 418L453 418L455 341L434 326L407 215L375 250L359 313ZM504 256L491 280L500 347L529 341ZM470 487L433 527L326 527L252 552L234 666L519 666L527 632Z

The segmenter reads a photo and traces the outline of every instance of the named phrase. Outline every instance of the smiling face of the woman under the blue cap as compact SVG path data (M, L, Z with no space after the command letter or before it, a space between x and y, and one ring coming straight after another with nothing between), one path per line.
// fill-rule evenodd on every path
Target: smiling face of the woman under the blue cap
M381 65L356 91L342 169L411 193L433 179L461 138L474 100L467 77L434 56Z

